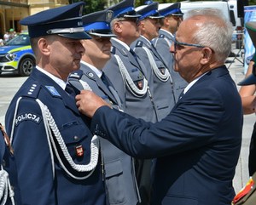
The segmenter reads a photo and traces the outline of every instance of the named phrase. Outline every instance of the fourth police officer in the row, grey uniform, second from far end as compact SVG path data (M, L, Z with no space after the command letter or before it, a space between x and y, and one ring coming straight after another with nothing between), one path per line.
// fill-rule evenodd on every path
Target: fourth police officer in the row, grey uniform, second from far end
M138 23L141 36L131 43L131 48L143 61L151 75L148 77L148 84L149 88L153 90L154 104L157 109L158 121L160 121L172 110L175 105L175 96L169 68L151 43L154 37L158 37L159 20L163 18L157 9L157 2L137 9L137 13L141 14Z

